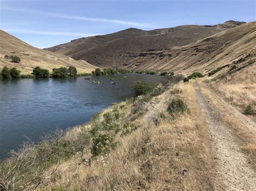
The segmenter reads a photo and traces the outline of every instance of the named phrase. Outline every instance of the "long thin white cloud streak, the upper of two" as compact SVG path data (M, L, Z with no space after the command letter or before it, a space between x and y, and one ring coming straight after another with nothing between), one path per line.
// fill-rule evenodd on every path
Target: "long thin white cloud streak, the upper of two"
M50 16L50 17L54 17L54 18L86 20L86 21L91 21L91 22L113 23L113 24L120 24L120 25L127 25L127 26L138 26L138 27L149 27L149 28L157 27L157 26L154 26L154 25L151 25L151 24L130 22L130 21L119 20L119 19L108 19L108 18L97 18L97 17L80 17L80 16L62 15L62 14L58 14L58 13L50 13L50 12L28 10L28 9L9 8L9 7L5 7L5 8L2 8L2 9L3 10L10 10L10 11L26 12L26 13L36 13L36 14Z

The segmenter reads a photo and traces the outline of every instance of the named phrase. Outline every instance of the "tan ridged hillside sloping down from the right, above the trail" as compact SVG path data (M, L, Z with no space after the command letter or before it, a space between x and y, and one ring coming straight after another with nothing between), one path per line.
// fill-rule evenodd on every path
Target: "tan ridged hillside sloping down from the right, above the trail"
M144 52L127 63L134 70L208 73L220 66L239 68L255 62L256 22L243 24L195 43Z

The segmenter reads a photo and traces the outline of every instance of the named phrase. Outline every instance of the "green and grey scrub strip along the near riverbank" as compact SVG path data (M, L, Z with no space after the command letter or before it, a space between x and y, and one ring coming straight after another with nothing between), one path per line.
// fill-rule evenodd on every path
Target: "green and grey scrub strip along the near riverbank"
M143 95L100 112L85 125L67 131L56 130L42 136L38 144L24 143L0 164L1 186L15 190L49 186L60 180L60 166L72 159L77 162L73 170L91 169L92 162L116 151L125 137L143 128L143 118L151 102L164 91L164 86L159 84L143 91ZM107 161L100 162L107 166Z

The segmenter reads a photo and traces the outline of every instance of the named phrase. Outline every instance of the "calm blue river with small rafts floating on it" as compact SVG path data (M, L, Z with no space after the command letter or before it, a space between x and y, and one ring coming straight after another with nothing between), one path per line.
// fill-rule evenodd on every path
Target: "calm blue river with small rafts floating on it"
M43 133L86 123L113 102L132 97L135 81L157 86L162 79L157 75L115 74L0 80L0 160L27 140L37 142Z

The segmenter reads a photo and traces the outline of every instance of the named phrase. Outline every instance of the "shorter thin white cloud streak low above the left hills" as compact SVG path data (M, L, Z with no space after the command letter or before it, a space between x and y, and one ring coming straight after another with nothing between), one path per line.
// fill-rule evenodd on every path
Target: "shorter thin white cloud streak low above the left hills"
M25 30L25 29L2 29L2 30L5 32L15 32L15 33L24 33L24 34L43 34L43 35L67 36L67 37L90 37L90 36L99 35L99 34L77 33L77 32L34 31L34 30Z

